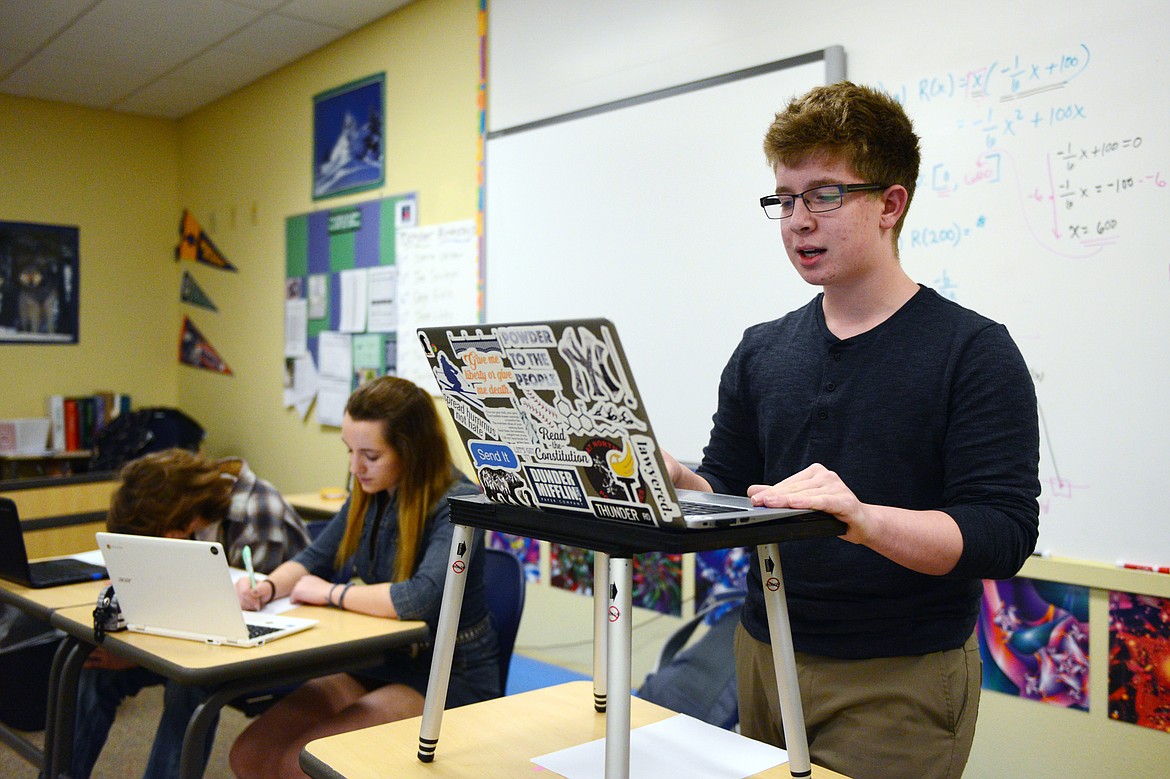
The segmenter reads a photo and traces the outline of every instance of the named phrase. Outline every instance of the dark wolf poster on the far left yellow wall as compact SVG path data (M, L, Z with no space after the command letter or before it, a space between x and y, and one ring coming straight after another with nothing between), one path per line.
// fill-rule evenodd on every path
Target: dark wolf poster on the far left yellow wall
M0 343L76 344L80 230L0 221Z

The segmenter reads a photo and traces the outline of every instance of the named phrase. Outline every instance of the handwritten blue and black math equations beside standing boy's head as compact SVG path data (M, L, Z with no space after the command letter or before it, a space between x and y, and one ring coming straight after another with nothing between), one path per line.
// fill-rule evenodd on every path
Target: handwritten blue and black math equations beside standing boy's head
M1078 43L927 75L889 90L916 124L936 126L924 138L942 133L945 142L945 156L924 160L918 180L935 205L911 215L903 247L956 250L970 237L1023 223L1049 253L1083 258L1135 227L1126 219L1136 199L1165 192L1156 154L1163 127L1101 133L1102 122L1119 117L1094 110L1096 98L1086 89L1093 64L1089 46Z

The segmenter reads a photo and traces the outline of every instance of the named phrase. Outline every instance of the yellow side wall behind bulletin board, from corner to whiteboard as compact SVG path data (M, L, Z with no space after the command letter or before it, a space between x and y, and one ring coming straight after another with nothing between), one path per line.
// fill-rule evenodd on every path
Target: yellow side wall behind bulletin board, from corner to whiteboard
M241 454L285 491L344 485L337 428L282 407L284 220L402 192L420 223L477 208L479 21L474 0L421 0L179 123L179 192L238 274L202 273L219 306L198 326L233 378L181 368L179 406L211 454ZM386 74L386 185L315 202L312 96ZM211 226L214 225L214 229Z

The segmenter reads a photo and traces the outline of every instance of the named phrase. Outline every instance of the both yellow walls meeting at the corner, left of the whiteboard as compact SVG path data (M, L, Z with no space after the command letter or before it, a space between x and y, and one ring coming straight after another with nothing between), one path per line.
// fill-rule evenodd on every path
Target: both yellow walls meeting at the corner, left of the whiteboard
M0 418L44 415L49 393L129 392L177 406L205 450L246 457L290 492L343 485L336 428L282 407L284 220L415 192L422 225L477 209L479 4L418 0L172 122L0 95L0 219L81 228L81 343L0 346L19 380ZM386 185L311 197L312 96L386 74ZM190 209L239 270L173 261ZM188 270L219 311L180 305ZM188 315L233 370L178 363Z

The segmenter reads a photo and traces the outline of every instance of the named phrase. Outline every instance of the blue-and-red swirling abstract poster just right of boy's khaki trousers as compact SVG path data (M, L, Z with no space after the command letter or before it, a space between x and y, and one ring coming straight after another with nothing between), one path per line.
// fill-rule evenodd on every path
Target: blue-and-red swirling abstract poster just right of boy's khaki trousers
M1089 591L1017 577L983 582L983 688L1089 708Z

